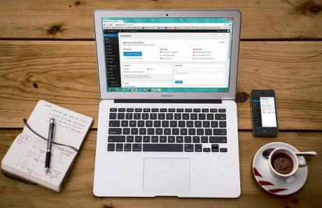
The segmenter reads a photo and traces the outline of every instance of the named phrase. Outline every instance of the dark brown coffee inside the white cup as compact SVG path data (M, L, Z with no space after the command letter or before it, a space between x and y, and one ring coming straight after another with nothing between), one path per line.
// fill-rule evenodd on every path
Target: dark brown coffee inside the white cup
M289 174L293 170L293 160L286 153L276 153L272 157L272 166L280 174Z

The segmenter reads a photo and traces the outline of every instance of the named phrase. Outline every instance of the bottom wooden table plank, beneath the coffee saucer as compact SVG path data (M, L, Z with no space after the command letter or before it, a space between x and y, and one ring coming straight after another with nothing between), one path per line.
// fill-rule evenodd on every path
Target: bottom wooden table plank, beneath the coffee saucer
M0 130L0 158L8 150L20 130ZM274 197L257 185L251 173L253 155L260 146L283 141L300 151L322 152L322 133L281 133L278 139L254 138L251 132L239 132L241 196L238 199L156 198L98 198L92 194L94 154L97 132L92 130L76 159L61 193L40 186L9 179L0 174L1 207L319 207L321 204L322 158L308 158L307 183L297 193Z

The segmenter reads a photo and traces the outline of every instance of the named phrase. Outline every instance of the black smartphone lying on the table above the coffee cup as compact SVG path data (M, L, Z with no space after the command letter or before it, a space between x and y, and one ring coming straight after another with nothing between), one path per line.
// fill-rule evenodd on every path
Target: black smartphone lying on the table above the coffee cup
M276 137L279 134L274 90L251 91L253 134L260 137Z

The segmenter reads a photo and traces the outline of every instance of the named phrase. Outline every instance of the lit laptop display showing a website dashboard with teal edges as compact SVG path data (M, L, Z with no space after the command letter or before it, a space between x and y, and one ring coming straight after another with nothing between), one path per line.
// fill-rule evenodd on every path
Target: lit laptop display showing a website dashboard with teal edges
M229 92L233 18L102 18L107 92Z

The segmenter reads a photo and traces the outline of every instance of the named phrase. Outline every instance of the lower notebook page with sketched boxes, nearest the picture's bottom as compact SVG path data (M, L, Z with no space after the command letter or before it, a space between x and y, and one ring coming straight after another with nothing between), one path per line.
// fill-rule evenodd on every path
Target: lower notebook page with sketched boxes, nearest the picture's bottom
M76 157L76 151L52 144L50 168L45 174L46 146L47 142L43 139L19 134L3 158L2 165L27 174L33 181L38 179L59 187Z

